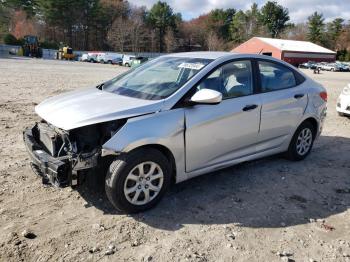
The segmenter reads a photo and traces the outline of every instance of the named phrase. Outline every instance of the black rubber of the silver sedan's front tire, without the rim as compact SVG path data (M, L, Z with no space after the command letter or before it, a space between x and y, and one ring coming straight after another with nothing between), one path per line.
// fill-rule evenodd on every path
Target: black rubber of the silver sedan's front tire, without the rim
M152 161L160 166L163 171L163 184L154 199L143 205L135 205L127 200L124 184L129 172L138 164L147 161ZM105 190L109 201L116 209L126 213L137 213L154 207L169 188L170 181L171 167L168 159L156 149L140 149L120 156L112 162L107 171Z

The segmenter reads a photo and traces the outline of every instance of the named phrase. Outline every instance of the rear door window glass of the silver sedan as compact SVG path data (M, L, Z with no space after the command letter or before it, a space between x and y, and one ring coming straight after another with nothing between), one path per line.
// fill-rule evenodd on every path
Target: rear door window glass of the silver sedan
M259 61L262 92L270 92L296 86L292 70L276 63Z

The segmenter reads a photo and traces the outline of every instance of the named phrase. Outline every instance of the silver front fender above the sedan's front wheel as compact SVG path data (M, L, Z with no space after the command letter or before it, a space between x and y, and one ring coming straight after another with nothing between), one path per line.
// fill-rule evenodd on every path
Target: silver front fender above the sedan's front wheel
M164 146L175 159L176 182L184 181L184 119L182 108L130 118L102 148L121 154L146 145Z

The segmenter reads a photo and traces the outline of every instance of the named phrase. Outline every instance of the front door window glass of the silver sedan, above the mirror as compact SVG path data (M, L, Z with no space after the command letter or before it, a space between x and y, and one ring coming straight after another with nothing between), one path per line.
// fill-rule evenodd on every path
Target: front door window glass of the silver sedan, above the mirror
M219 67L199 83L197 90L201 89L219 91L223 99L253 94L251 62L235 61Z

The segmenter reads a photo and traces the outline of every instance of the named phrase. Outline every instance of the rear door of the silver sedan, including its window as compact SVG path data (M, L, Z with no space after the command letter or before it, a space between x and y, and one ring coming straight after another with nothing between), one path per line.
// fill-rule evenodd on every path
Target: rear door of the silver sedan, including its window
M258 61L261 124L257 151L280 146L303 117L308 103L300 76L277 62Z

